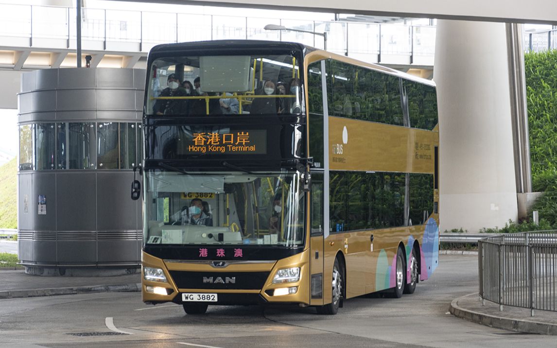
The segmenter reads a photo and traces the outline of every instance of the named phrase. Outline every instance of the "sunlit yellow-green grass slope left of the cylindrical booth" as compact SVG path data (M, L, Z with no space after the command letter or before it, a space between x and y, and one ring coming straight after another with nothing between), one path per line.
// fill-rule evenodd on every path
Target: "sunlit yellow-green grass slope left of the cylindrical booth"
M17 228L16 159L0 166L0 228Z

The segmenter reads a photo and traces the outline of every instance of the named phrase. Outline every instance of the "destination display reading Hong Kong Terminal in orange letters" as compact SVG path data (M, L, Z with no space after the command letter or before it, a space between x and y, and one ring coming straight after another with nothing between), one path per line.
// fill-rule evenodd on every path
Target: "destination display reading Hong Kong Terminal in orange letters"
M191 130L178 141L179 155L267 154L267 130Z

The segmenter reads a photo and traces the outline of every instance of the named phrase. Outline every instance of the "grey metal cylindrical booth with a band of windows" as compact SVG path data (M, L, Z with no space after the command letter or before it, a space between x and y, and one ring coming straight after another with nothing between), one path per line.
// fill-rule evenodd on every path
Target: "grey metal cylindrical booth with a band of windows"
M145 71L37 70L19 94L18 244L35 275L138 271Z

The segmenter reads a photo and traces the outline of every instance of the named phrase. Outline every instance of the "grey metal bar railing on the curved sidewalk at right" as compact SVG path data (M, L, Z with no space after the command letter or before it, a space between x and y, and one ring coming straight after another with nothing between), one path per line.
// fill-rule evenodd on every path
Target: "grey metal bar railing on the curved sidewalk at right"
M485 300L557 311L557 231L501 234L478 242L478 276Z

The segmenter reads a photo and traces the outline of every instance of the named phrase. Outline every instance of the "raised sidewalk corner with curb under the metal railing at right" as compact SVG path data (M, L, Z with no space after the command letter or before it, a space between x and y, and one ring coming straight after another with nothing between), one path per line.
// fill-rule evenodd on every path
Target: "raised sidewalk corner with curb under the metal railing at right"
M456 298L451 302L452 315L486 326L528 334L557 335L557 312L534 311L530 316L527 308L504 306L485 301L485 306L477 293Z

